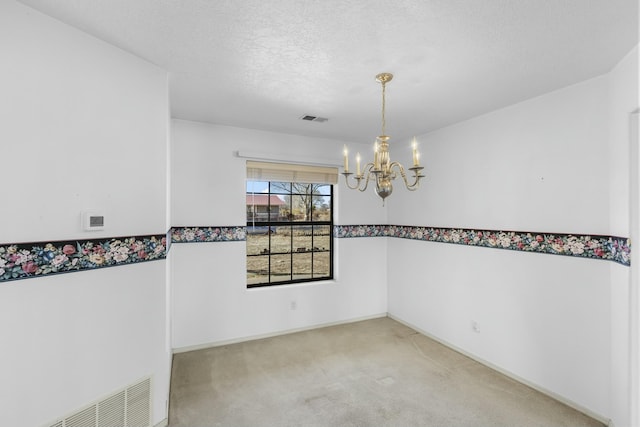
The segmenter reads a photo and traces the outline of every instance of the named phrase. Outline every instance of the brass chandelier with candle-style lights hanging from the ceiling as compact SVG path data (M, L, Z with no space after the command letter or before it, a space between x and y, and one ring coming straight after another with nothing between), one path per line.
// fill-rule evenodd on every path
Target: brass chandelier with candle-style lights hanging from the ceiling
M384 199L391 195L393 191L393 185L391 181L397 178L398 173L404 181L404 185L410 191L415 191L420 187L420 178L424 178L424 175L420 173L422 166L420 166L420 153L418 153L418 146L415 137L413 138L413 166L409 168L413 172L413 182L409 183L407 179L407 173L405 168L399 162L392 162L389 154L389 136L385 133L386 121L385 121L385 89L386 84L393 79L391 73L381 73L376 76L376 81L382 84L382 135L376 138L374 144L373 162L364 165L364 168L360 168L360 153L356 154L356 173L355 176L352 172L349 172L349 150L347 146L344 147L344 175L347 187L352 190L365 191L369 186L369 181L375 181L376 193L382 198L382 205L384 206Z

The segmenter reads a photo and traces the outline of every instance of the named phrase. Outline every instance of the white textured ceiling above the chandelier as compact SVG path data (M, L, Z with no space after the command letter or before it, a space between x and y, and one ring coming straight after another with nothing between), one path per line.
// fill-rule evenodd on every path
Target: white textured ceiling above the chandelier
M173 117L409 138L609 71L637 0L22 0L170 72ZM304 114L326 123L299 120Z

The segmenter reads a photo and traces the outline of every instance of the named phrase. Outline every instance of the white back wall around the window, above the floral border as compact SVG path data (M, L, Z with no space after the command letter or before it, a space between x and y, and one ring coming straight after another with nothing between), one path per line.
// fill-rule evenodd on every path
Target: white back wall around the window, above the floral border
M363 155L372 151L366 144L172 120L172 225L246 223L246 159L237 157L238 151L283 161L320 159L341 166L344 144L352 156L358 150ZM385 224L386 210L371 197L373 189L367 193L348 190L343 180L340 176L340 185L334 189L338 193L336 224Z

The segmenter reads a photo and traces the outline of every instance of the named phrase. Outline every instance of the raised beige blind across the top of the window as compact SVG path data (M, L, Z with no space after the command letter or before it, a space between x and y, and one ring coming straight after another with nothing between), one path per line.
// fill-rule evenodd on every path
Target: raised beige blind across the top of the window
M247 160L247 179L250 181L337 184L338 168Z

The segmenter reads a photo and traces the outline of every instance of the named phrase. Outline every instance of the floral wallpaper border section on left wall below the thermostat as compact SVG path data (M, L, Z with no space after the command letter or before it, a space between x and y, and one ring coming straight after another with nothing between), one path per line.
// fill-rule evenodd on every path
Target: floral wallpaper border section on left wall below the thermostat
M166 256L165 234L0 244L0 282L154 261Z

